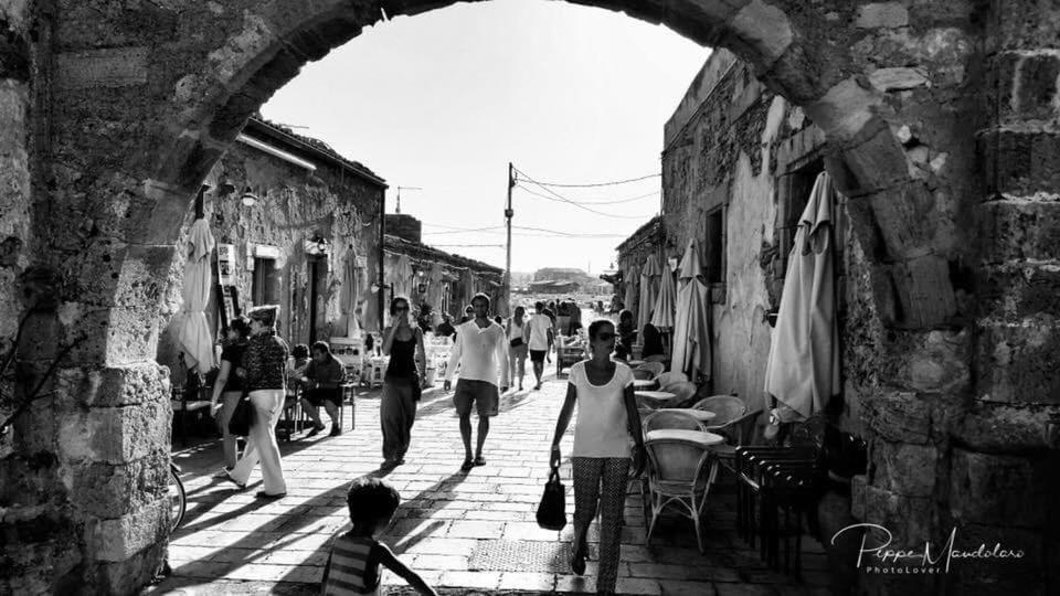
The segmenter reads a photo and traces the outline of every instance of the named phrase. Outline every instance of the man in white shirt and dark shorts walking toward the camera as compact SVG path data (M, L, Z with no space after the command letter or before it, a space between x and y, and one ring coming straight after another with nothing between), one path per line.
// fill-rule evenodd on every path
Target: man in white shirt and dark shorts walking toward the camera
M452 386L453 372L460 365L453 405L460 416L460 438L464 439L462 470L485 466L483 445L489 434L489 417L497 414L501 392L508 391L508 340L505 330L489 320L489 296L476 294L471 298L475 318L457 327L456 343L445 369L444 391ZM471 459L471 404L478 411L478 443Z

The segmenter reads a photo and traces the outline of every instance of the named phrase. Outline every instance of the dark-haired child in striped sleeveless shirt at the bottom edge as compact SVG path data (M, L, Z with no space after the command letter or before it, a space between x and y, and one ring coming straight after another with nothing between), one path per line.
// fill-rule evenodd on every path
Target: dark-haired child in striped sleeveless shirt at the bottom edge
M335 539L325 567L321 594L382 594L380 566L396 573L420 594L437 596L375 536L390 525L401 496L385 480L358 478L346 497L353 529Z

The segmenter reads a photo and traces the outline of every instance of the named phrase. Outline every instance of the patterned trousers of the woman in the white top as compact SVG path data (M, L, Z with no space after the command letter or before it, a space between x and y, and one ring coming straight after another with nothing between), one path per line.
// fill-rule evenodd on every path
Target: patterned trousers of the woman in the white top
M615 592L618 544L626 503L628 457L574 457L574 543L584 542L600 504L600 565L596 592ZM601 488L603 487L603 488Z

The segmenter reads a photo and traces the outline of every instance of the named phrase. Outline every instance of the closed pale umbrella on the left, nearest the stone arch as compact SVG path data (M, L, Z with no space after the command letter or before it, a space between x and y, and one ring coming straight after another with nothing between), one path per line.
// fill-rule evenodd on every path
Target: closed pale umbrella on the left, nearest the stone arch
M205 220L195 220L188 231L188 262L184 263L184 279L181 288L183 304L180 307L180 332L178 341L184 353L188 370L205 374L213 368L213 337L206 313L213 287L210 272L210 255L216 243Z

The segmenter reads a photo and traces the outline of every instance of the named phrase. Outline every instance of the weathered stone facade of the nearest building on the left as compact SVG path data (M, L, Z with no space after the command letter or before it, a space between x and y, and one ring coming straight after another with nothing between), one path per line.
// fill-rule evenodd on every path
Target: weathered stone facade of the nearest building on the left
M239 139L211 169L203 195L214 240L231 257L224 267L236 306L229 316L279 305L277 329L292 345L375 330L371 285L378 280L385 181L319 140L257 118ZM173 260L159 312L158 362L177 383L183 257ZM212 291L205 312L214 331L221 301Z

